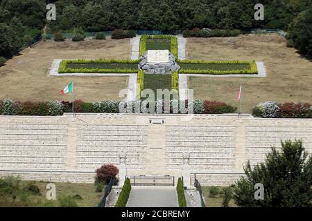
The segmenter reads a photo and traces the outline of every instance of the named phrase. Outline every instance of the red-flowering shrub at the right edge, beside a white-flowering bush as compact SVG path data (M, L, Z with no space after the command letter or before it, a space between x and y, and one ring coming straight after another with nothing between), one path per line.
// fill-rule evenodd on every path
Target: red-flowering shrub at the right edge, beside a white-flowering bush
M311 104L308 103L284 103L279 104L277 117L280 118L311 118Z

